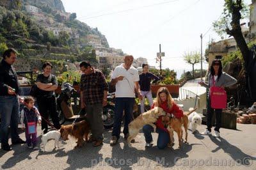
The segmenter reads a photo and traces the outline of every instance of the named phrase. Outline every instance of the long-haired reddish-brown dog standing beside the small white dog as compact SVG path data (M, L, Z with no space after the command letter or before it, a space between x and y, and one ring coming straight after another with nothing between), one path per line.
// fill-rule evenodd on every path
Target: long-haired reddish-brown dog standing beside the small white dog
M68 140L68 135L71 135L75 139L77 139L77 146L81 147L83 146L84 143L84 138L85 141L88 141L88 134L90 133L90 125L88 121L83 120L75 123L74 125L65 125L61 126L60 128L60 134L61 137L64 139L64 141Z

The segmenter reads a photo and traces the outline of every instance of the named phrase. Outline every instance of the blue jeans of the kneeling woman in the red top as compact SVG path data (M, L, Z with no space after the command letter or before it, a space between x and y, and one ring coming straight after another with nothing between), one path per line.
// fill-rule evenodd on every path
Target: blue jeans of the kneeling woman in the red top
M153 141L151 133L154 132L154 128L151 125L145 125L142 130L146 143L151 143ZM159 148L159 150L163 150L170 142L170 134L160 128L156 128L156 132L158 134L157 148Z

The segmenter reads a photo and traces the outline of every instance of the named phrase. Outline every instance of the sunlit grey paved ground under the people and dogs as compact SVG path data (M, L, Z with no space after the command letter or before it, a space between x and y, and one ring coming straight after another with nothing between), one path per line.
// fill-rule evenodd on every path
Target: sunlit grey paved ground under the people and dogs
M153 135L154 146L145 148L143 134L136 137L136 143L129 148L123 137L120 144L109 146L111 134L104 132L104 144L94 148L85 144L74 149L76 143L70 139L61 148L53 149L49 141L46 152L29 150L26 145L13 146L13 151L0 150L1 169L244 169L245 160L250 160L248 169L256 169L256 126L238 124L239 130L221 129L221 138L193 135L189 132L188 144L177 147L177 134L173 150L156 147L157 134ZM200 131L205 126L200 127ZM38 132L40 130L38 129ZM20 134L24 139L24 133ZM40 140L40 138L38 138ZM242 162L241 162L241 161ZM223 162L229 166L221 166ZM212 166L208 166L212 165ZM213 166L216 165L216 166Z

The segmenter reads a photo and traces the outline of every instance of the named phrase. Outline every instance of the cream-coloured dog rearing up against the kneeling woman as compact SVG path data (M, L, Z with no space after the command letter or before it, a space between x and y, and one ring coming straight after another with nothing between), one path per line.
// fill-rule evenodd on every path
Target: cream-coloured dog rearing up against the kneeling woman
M132 139L138 135L144 125L151 125L154 128L154 132L156 132L156 125L154 125L154 123L159 116L165 115L166 112L164 112L162 108L154 107L154 109L140 114L135 120L131 121L131 123L129 123L129 137L127 139L129 147L131 147Z

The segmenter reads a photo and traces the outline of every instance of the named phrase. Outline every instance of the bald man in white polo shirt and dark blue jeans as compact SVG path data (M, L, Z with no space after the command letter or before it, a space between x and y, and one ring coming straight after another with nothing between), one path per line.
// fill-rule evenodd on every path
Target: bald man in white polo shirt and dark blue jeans
M139 86L138 70L132 66L133 56L125 56L124 63L116 66L111 76L111 85L116 86L115 123L112 131L111 145L117 143L120 137L123 112L125 112L124 138L129 136L128 125L132 120L132 109L135 102L135 93L142 98Z

